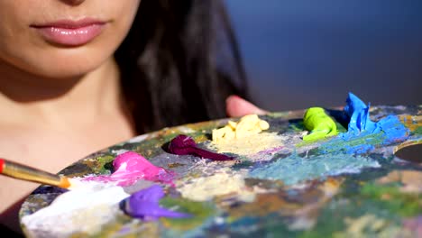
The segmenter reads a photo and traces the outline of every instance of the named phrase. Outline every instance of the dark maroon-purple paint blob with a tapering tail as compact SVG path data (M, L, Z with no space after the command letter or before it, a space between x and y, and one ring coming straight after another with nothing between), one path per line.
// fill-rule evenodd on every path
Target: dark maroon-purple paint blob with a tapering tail
M211 151L206 151L197 147L197 143L188 135L179 134L173 140L171 140L169 145L169 151L172 154L177 155L194 155L201 158L206 158L209 160L234 160L233 157L227 156L225 154L215 153Z

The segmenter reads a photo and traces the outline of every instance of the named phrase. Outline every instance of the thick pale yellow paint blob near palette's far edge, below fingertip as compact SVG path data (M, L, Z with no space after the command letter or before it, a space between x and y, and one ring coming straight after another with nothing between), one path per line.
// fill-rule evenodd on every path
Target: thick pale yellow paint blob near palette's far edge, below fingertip
M229 121L225 127L213 130L213 142L226 142L242 139L263 130L268 130L270 124L261 120L257 114L243 116L238 123Z

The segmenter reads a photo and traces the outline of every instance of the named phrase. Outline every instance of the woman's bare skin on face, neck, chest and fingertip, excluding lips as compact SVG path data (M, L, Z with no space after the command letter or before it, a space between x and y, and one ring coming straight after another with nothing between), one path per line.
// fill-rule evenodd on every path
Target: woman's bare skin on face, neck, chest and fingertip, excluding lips
M1 157L57 173L135 136L113 53L140 2L0 1ZM51 43L33 27L83 17L105 21L103 32L83 45ZM229 116L261 112L242 98L227 99ZM0 223L20 232L18 210L38 185L7 177L0 184Z

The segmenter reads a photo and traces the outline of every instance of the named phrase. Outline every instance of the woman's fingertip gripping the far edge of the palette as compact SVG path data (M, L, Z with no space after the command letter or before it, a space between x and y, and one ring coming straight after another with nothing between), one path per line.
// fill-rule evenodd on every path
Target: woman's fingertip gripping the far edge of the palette
M246 114L267 114L256 105L244 100L240 96L229 96L225 99L225 111L230 117L240 117Z

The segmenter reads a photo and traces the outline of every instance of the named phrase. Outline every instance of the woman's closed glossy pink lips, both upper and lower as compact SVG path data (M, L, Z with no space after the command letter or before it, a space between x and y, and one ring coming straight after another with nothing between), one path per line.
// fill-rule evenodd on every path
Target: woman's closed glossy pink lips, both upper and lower
M54 23L32 25L49 42L62 46L80 46L92 41L103 32L105 22L91 19L61 20Z

